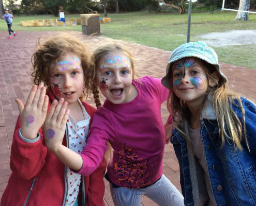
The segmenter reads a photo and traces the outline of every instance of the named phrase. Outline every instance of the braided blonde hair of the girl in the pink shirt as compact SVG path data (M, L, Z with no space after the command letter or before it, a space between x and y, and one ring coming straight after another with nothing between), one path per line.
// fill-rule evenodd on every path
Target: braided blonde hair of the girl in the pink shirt
M108 55L109 53L115 52L115 51L122 52L126 55L126 57L131 62L132 80L136 76L132 55L130 54L128 49L125 48L123 45L116 44L116 43L109 43L109 44L104 44L102 46L99 46L97 49L95 49L93 52L93 55L92 55L92 62L94 63L94 72L93 72L94 78L92 79L92 88L93 88L93 95L94 95L95 104L96 104L97 108L99 108L101 106L101 102L99 100L99 79L98 79L98 75L97 75L99 63L100 63L100 60L104 56ZM108 150L105 153L105 158L109 162L113 156L113 148L110 145L109 141L107 142L107 144L108 144Z

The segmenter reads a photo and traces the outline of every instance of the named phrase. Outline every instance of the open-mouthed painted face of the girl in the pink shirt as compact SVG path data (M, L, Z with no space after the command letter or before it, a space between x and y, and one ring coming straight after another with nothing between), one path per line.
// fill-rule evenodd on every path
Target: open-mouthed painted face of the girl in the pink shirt
M100 91L113 104L132 100L131 62L122 52L112 52L103 56L97 68Z

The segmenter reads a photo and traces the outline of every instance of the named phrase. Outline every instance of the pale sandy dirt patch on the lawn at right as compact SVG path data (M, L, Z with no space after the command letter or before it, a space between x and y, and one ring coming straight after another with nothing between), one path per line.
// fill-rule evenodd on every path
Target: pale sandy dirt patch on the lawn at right
M236 45L256 45L256 30L230 30L227 32L213 32L200 35L202 41L209 46L236 46Z

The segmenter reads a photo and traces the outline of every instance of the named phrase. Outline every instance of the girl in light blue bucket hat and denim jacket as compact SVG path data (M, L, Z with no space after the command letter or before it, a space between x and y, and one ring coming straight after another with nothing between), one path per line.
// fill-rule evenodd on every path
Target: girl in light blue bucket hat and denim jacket
M256 107L228 90L214 50L179 46L162 84L185 205L256 205Z

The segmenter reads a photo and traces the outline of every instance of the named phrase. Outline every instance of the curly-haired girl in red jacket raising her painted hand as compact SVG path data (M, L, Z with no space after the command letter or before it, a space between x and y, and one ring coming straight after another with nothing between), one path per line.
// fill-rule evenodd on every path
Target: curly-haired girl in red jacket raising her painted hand
M41 128L50 105L58 103L58 109L65 113L66 118L65 122L55 125L63 128L61 144L74 152L83 150L89 123L95 113L95 109L81 98L83 93L87 95L90 91L91 58L76 39L57 36L42 45L39 43L33 55L33 66L36 85L29 93L25 107L21 100L16 100L20 116L11 147L12 173L1 206L103 206L106 161L103 160L89 176L73 173L45 146L45 141L52 138L54 131L42 131ZM59 117L53 116L59 121ZM43 136L46 136L45 141Z

